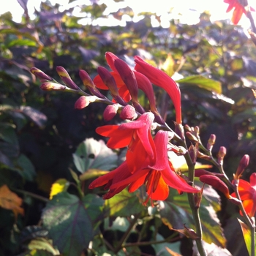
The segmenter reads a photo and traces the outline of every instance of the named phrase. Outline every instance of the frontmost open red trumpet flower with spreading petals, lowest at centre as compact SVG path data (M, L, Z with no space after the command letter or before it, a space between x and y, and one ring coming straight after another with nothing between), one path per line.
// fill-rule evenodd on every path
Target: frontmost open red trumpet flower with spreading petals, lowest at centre
M179 192L198 192L197 189L189 186L183 178L178 176L173 168L173 165L167 158L167 142L168 132L159 131L154 138L156 151L156 158L153 165L148 165L147 158L143 158L143 161L138 164L137 159L140 158L140 154L137 151L127 151L127 167L131 169L129 165L135 165L140 167L139 170L135 170L130 176L122 181L113 183L110 185L110 189L117 189L118 187L124 187L129 185L129 192L134 192L143 184L146 185L146 192L148 198L145 203L151 200L165 200L169 195L169 187L178 189ZM136 148L139 149L139 146ZM143 150L140 149L142 153ZM133 161L132 161L133 160ZM143 166L144 165L144 166ZM146 167L147 165L147 167Z

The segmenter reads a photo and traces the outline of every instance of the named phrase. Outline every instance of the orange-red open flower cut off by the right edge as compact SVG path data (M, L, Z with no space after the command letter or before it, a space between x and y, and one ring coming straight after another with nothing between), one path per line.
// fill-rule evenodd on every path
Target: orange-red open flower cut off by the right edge
M256 212L256 173L252 173L249 182L238 180L238 193L243 201L244 211L249 217L254 217ZM235 192L231 196L236 197ZM240 211L243 216L243 213Z

